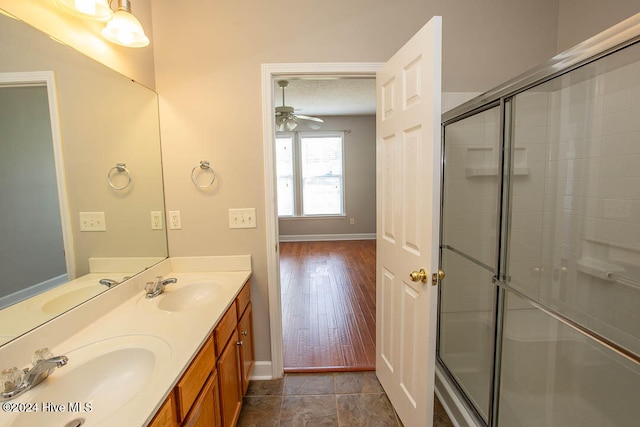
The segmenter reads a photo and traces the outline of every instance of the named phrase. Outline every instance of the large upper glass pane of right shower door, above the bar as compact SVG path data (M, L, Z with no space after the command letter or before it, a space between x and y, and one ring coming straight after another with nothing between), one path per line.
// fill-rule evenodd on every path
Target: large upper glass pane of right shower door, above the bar
M640 44L513 104L509 287L640 355Z

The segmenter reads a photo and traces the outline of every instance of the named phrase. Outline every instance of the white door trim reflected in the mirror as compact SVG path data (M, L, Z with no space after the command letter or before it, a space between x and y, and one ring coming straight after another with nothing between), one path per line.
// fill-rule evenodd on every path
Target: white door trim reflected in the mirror
M53 143L53 158L56 167L56 184L58 186L58 204L60 206L60 222L62 241L64 244L65 262L68 280L76 278L76 257L73 247L71 229L71 215L69 212L69 197L64 175L64 160L62 157L62 136L58 114L58 98L56 95L56 81L53 71L25 71L17 73L0 73L0 85L40 85L47 87L49 100L49 121L51 123L51 140Z

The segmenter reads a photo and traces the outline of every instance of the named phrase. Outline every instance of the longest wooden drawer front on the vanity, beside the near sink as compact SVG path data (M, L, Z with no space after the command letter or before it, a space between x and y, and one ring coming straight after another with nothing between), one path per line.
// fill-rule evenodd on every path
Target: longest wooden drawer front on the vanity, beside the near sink
M191 366L182 376L176 386L178 420L183 421L189 409L195 402L202 386L209 378L215 367L215 350L213 348L213 337L209 337L200 353L193 359Z

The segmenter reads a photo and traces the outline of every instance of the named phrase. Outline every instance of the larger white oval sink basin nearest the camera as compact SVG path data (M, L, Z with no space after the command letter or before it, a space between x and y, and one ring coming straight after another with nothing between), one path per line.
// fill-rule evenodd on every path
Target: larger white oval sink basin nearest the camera
M38 412L16 414L10 426L64 426L78 418L94 425L126 406L135 407L147 399L149 390L158 389L156 383L169 364L171 350L160 338L127 335L64 355L69 358L66 366L12 401L37 403ZM62 405L64 412L43 411L43 403Z

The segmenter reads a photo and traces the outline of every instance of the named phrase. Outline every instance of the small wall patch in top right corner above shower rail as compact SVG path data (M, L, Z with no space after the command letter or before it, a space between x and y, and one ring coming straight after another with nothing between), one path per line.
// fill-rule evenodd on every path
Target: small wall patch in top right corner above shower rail
M560 0L558 52L640 12L638 0Z

